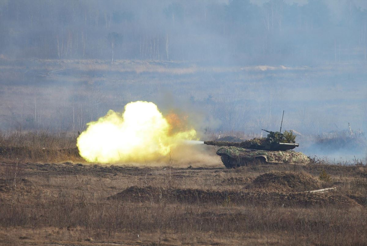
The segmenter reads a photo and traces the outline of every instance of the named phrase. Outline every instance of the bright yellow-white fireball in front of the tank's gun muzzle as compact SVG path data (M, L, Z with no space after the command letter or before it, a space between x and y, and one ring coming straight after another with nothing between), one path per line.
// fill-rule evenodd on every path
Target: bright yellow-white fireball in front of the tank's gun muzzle
M172 131L173 127L153 102L130 102L122 114L110 110L88 123L77 147L88 162L158 160L183 141L196 138L195 129Z

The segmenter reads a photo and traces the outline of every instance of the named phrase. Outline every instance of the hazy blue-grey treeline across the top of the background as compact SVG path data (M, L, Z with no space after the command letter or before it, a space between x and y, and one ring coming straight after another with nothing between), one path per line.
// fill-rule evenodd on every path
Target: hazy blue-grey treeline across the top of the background
M366 59L353 1L0 1L9 58L312 64ZM344 5L343 5L344 4Z

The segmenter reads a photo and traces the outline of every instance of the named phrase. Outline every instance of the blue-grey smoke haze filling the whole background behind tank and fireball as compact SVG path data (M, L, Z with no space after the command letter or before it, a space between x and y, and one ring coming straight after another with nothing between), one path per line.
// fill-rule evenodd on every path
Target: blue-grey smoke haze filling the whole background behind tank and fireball
M152 101L201 137L366 141L366 1L0 1L0 130L83 131ZM301 143L302 146L302 143Z

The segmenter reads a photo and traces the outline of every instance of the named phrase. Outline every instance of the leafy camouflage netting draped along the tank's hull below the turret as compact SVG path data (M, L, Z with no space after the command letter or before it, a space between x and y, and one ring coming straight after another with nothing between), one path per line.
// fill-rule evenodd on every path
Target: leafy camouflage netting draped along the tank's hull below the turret
M218 149L217 154L226 154L230 157L237 158L254 158L254 156L265 155L268 162L281 163L309 163L309 158L301 152L295 151L264 151L264 150L249 150L239 147L222 147Z

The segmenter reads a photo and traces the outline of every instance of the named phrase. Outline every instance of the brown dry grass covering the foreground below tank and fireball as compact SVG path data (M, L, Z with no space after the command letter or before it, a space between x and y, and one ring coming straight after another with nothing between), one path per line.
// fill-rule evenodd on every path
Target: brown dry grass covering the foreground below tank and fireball
M367 244L365 165L102 166L57 155L74 141L2 134L2 245Z

